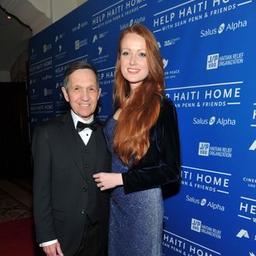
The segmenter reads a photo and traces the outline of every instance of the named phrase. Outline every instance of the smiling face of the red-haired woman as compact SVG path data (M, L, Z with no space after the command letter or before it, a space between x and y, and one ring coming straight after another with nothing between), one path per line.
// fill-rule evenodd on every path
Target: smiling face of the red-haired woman
M130 89L141 85L149 74L146 42L142 36L128 33L123 37L119 63L123 77L129 81Z

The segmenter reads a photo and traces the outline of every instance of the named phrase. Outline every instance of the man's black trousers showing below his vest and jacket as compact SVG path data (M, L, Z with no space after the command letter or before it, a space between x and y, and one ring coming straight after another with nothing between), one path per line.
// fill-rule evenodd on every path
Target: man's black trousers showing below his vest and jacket
M85 230L81 244L74 256L107 256L107 248L102 248L99 237L99 223L92 224L86 216Z

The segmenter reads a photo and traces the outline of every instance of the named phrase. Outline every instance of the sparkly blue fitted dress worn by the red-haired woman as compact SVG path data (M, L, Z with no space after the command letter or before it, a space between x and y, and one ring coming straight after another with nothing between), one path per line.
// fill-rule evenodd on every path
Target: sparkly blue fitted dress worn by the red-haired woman
M106 123L105 135L112 154L112 172L127 166L112 149L116 119ZM164 206L161 188L125 194L123 187L112 191L109 218L109 256L161 256Z

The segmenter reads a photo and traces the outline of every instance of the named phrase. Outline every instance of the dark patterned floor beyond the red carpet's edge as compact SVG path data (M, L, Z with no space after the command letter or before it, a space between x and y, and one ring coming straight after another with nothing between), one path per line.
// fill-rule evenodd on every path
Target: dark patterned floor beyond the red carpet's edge
M0 179L0 223L33 215L32 181Z

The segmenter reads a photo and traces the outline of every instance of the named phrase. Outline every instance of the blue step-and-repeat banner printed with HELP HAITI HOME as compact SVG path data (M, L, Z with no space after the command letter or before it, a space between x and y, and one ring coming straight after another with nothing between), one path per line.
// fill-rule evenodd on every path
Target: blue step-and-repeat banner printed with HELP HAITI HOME
M166 256L256 255L255 13L255 0L89 0L30 40L33 132L67 110L73 61L99 71L107 119L120 32L142 23L156 36L182 144L182 179L164 200Z

